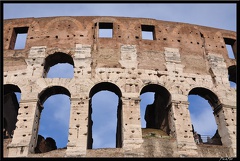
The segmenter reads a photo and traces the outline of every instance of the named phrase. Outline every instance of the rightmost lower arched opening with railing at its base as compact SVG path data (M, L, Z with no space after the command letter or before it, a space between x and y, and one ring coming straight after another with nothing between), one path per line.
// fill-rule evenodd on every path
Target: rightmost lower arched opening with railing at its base
M188 101L193 135L197 133L199 143L222 145L214 118L221 106L217 96L208 89L197 87L189 92Z

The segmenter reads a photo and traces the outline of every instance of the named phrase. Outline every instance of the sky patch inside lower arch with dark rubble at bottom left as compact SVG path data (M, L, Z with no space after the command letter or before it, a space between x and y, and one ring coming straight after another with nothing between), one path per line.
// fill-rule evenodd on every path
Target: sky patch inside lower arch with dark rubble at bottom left
M39 120L38 136L45 137L45 140L50 137L55 141L57 148L65 148L67 146L70 119L69 96L53 94L46 99L43 107Z

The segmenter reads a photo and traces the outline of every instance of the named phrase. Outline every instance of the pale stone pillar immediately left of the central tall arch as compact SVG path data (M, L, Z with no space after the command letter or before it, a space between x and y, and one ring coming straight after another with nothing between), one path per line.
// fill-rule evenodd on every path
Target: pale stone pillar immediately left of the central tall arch
M67 157L86 155L88 104L89 99L87 98L71 98L69 142L66 150Z

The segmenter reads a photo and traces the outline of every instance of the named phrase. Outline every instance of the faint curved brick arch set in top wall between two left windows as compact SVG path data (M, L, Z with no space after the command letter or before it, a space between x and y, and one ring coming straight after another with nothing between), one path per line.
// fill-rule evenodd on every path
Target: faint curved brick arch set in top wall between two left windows
M50 26L53 25L55 22L61 22L61 21L64 21L64 20L72 22L78 29L83 30L82 24L78 20L76 20L75 18L72 18L72 17L58 17L58 18L54 18L53 20L51 20L50 22L48 22L46 24L44 29L48 30L50 28Z

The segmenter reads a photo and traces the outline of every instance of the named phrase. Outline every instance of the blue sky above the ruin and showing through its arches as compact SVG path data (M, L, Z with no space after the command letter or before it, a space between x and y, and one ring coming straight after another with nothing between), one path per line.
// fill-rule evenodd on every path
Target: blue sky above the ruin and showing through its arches
M185 22L202 26L236 31L236 4L221 3L131 3L131 4L4 4L3 18L51 17L51 16L121 16L142 17L157 20ZM21 44L19 44L21 45ZM230 57L233 58L231 55ZM55 68L55 69L54 69ZM48 77L71 78L71 65L52 67ZM59 72L61 71L61 72ZM59 73L58 73L59 72ZM65 73L65 74L64 74ZM235 87L235 84L231 84ZM41 92L41 91L39 91ZM20 99L20 95L18 94ZM144 110L153 102L153 94L142 94L141 121L145 127ZM214 135L217 127L208 102L199 96L190 95L189 110L194 128L200 134ZM118 98L115 94L102 91L93 96L93 148L114 148L116 133L116 109ZM200 105L200 106L199 106ZM66 95L54 95L44 103L39 134L52 137L57 147L67 145L70 101ZM106 114L106 111L107 114ZM107 116L107 120L106 120ZM207 119L206 119L207 118ZM51 119L52 123L46 121ZM112 121L109 121L112 120ZM109 130L106 130L109 129ZM61 134L61 135L59 135Z

